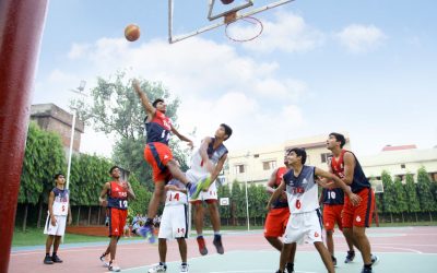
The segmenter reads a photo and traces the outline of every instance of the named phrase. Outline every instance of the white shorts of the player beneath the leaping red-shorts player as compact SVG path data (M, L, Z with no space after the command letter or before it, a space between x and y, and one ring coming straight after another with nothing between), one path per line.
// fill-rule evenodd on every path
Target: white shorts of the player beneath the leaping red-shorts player
M166 205L160 224L161 239L188 237L188 209L186 204Z

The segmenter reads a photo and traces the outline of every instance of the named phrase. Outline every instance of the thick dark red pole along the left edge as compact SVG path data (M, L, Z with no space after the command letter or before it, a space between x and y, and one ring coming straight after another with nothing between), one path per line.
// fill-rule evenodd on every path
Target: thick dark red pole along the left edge
M0 272L8 272L47 0L0 0Z

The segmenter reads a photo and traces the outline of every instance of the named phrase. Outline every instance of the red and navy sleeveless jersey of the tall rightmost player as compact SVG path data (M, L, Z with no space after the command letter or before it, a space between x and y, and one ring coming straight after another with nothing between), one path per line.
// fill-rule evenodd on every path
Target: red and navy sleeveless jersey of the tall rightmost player
M339 156L339 159L335 159L335 157L332 157L331 159L331 169L332 173L338 176L339 178L344 178L344 154L346 152L350 152L354 157L355 157L355 168L354 168L354 177L351 183L351 190L352 192L356 193L361 191L362 189L370 188L370 182L364 175L362 165L359 165L358 159L356 156L351 152L346 150L342 150Z

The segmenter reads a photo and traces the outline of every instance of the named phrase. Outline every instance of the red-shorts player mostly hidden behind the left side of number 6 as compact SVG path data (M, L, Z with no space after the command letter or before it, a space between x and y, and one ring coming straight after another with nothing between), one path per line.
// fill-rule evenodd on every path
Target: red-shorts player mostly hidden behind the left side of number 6
M290 170L290 165L286 156L284 157L284 165L275 169L270 176L267 182L267 192L273 194L274 190L281 185L282 177ZM286 224L290 217L288 201L285 191L281 197L272 204L272 209L267 214L264 225L264 237L265 239L277 249L282 251L283 242L279 237L282 237L285 232ZM286 263L287 272L294 272L294 257L296 254L296 244L292 244L292 250L290 252L290 259Z

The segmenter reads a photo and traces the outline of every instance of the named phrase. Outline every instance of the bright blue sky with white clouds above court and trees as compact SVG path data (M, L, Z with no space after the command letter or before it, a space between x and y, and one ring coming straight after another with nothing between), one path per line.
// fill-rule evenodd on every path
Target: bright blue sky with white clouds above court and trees
M211 24L208 1L175 1L176 35ZM70 90L82 80L86 93L97 76L127 71L162 82L181 100L179 132L196 128L201 139L229 124L231 152L332 131L347 132L358 155L387 144L430 149L437 145L436 10L432 0L296 0L257 14L263 32L251 41L232 41L221 27L169 45L167 1L51 0L33 104L68 109L76 96ZM123 37L130 23L141 28L134 43ZM250 25L239 22L229 32L250 35ZM86 128L81 151L110 157L113 143Z

